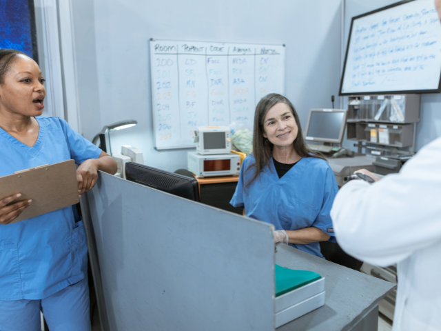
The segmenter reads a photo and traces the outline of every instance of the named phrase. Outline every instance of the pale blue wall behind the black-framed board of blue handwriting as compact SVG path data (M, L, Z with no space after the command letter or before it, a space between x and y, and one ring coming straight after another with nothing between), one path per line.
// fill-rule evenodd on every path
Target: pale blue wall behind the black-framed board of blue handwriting
M398 0L345 0L345 45L349 38L351 18L396 3ZM345 46L346 51L346 46ZM345 57L345 54L342 54ZM347 97L344 98L347 108ZM416 150L441 137L441 94L421 94L420 123L417 124ZM353 141L344 141L344 146L353 146Z

